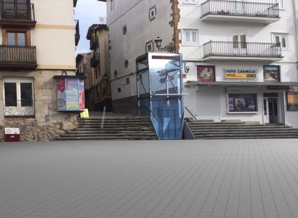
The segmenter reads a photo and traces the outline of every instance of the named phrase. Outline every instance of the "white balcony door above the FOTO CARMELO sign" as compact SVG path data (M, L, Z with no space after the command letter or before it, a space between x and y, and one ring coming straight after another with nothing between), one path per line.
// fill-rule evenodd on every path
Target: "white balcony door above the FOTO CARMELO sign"
M232 52L234 55L246 55L246 32L231 31Z

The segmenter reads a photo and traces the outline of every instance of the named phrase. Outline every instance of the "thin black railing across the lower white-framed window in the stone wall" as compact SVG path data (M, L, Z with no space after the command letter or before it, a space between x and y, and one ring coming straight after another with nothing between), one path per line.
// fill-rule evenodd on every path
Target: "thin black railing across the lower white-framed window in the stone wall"
M4 117L34 117L34 100L5 100Z

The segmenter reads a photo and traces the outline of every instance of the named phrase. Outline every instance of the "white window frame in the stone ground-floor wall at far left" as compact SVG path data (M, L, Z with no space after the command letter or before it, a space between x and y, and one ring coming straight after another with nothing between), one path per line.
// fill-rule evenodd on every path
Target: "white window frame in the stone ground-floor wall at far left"
M16 101L17 101L17 106L5 106L5 87L4 83L16 83ZM20 83L31 83L32 84L32 106L20 106L18 105L18 102L21 101L21 87ZM3 100L4 100L4 107L10 107L12 110L16 108L16 112L14 113L14 116L23 116L21 113L22 109L21 108L32 108L32 112L28 114L27 116L34 116L35 115L35 110L34 110L34 82L33 79L28 79L28 78L3 78ZM4 110L4 116L11 116L10 114L5 114Z

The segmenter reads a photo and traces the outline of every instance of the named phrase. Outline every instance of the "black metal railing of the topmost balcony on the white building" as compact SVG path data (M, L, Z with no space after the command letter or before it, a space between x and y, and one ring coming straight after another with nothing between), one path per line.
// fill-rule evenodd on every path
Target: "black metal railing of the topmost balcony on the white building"
M201 17L207 14L279 17L278 4L207 0L201 4Z

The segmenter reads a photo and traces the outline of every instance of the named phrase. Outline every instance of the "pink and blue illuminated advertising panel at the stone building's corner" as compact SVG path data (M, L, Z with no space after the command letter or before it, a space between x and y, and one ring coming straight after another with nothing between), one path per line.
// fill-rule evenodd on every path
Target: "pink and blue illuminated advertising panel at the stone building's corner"
M84 111L84 79L57 77L57 111Z

